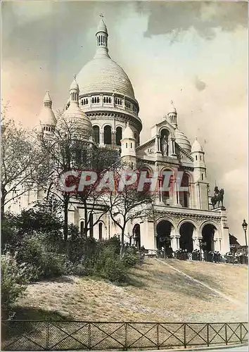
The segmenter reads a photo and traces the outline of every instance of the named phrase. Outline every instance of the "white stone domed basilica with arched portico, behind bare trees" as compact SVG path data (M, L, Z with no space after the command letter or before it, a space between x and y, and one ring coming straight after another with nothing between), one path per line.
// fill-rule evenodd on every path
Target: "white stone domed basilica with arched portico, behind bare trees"
M120 151L122 161L141 161L148 174L158 172L160 182L165 171L183 172L182 182L187 189L159 192L153 201L153 213L127 225L127 241L129 237L137 247L155 251L165 245L167 237L173 251L190 252L199 249L203 241L207 251L224 254L229 252L226 209L210 205L205 152L198 139L189 142L178 125L174 103L169 106L162 120L151 126L151 137L141 144L143 118L139 117L139 102L129 77L110 57L108 29L101 18L96 31L96 54L74 77L70 99L65 102L65 116L73 117L75 123L89 130L97 147ZM34 129L37 139L53 138L56 124L51 96L46 92ZM30 193L21 207L32 206L37 199L39 192ZM79 230L84 227L82 204L71 201L69 220ZM108 213L90 231L90 236L100 240L115 235L119 235L119 228Z

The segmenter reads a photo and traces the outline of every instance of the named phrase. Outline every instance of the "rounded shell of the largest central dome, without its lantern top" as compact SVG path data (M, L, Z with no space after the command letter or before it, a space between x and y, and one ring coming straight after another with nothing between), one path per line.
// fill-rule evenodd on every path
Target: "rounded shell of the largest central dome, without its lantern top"
M135 99L132 83L125 71L108 55L95 57L77 75L79 95L116 93Z

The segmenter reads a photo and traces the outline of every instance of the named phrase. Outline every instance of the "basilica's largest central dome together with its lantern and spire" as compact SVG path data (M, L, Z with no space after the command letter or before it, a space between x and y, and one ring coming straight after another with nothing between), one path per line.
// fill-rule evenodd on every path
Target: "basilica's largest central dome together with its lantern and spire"
M108 30L101 20L96 32L96 54L77 75L79 96L120 94L135 99L132 83L125 71L108 54Z

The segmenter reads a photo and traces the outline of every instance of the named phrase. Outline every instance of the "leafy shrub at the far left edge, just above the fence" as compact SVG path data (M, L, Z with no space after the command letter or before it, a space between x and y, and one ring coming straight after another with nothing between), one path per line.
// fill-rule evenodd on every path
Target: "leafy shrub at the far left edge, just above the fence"
M1 256L1 307L4 318L10 318L13 303L25 294L29 280L29 265L19 265L10 253Z

